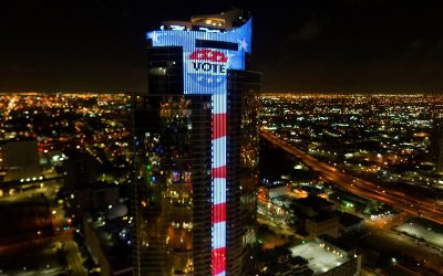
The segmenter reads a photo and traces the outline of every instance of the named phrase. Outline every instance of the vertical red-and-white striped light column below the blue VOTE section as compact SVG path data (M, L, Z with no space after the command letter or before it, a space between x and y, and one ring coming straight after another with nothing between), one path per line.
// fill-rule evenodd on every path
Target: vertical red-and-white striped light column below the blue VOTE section
M213 97L212 275L226 275L226 93Z

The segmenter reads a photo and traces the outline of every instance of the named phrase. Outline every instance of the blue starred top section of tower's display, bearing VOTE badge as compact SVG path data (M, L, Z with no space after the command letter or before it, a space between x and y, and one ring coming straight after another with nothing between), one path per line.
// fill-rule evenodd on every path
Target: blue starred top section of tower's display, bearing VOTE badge
M251 51L251 20L226 32L153 31L146 34L153 46L183 46L184 94L226 93L228 68L245 68L245 52ZM238 44L238 51L196 47L196 40Z

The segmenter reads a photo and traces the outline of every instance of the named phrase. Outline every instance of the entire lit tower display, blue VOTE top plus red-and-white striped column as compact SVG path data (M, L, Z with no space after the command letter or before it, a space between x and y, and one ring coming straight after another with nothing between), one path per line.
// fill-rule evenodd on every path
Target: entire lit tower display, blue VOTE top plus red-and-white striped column
M251 51L251 20L222 32L148 32L152 46L182 46L184 94L212 95L212 274L226 275L227 71L245 70ZM159 72L162 73L162 72Z

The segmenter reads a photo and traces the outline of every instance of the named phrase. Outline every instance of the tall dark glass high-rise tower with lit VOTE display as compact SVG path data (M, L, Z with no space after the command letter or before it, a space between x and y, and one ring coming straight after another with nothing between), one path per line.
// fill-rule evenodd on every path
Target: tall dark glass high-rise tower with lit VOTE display
M257 99L240 11L148 32L135 96L135 275L251 275Z

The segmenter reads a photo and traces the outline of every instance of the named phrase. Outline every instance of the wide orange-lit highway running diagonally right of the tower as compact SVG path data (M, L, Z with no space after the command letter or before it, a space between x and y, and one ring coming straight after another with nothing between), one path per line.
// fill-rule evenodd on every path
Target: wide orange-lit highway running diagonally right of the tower
M344 171L340 171L332 166L317 160L270 131L260 130L260 136L293 157L299 158L310 169L315 170L326 180L333 182L338 188L347 192L365 199L380 201L388 205L443 224L443 209L435 204L431 199L420 197L419 194L400 193L392 188L385 188L347 174Z

